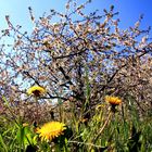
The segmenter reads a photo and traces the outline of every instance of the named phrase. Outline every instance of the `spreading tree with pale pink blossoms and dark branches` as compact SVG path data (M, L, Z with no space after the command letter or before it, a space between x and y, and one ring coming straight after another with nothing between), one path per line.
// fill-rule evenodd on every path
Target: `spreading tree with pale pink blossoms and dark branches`
M90 2L78 5L69 0L65 13L50 10L38 20L29 8L30 34L5 16L1 97L13 105L30 102L34 99L26 90L41 86L47 93L38 99L40 103L73 102L84 117L89 117L106 94L118 96L124 102L134 98L143 112L152 107L150 27L140 29L141 15L135 26L121 29L113 5L102 13L86 14Z

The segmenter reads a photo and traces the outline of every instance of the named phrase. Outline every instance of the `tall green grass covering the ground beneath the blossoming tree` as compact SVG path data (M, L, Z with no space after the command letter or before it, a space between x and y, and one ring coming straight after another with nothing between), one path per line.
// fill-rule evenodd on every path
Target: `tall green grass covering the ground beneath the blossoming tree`
M88 89L88 88L87 88ZM89 90L86 96L89 96ZM76 114L75 102L61 103L55 121L63 122L67 128L64 135L53 141L41 141L37 127L22 116L14 115L11 105L4 99L8 113L0 116L0 151L1 152L151 152L152 118L142 115L129 96L124 99L116 111L104 101L90 112L91 117L83 119L85 106ZM88 101L87 101L88 102ZM66 104L67 105L67 104ZM48 119L51 121L51 119Z

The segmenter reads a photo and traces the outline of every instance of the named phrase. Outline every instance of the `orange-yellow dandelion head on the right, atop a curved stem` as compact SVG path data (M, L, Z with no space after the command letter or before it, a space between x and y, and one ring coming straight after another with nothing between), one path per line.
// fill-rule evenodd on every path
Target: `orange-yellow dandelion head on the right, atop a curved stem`
M118 105L122 103L122 99L119 99L118 97L113 97L113 96L106 96L105 101L112 105Z

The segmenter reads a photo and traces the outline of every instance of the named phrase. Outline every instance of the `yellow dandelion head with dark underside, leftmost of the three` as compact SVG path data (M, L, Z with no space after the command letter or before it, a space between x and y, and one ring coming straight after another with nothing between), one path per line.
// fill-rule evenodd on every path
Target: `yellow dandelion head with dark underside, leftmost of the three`
M27 93L39 97L40 94L46 93L46 89L43 87L40 87L40 86L33 86L27 90Z

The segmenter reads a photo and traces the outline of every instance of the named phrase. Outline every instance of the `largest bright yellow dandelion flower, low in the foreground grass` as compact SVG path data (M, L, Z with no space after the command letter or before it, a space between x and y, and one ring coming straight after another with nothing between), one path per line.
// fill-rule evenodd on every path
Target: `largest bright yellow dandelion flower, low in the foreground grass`
M66 129L65 124L60 122L49 122L41 128L38 128L37 132L41 140L51 141L52 139L63 135Z

